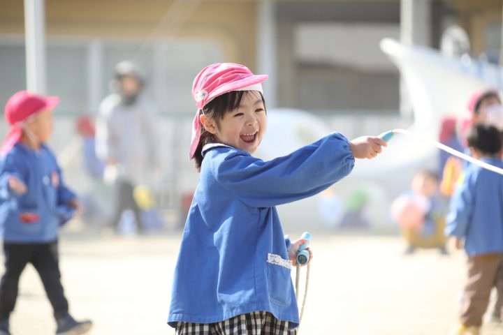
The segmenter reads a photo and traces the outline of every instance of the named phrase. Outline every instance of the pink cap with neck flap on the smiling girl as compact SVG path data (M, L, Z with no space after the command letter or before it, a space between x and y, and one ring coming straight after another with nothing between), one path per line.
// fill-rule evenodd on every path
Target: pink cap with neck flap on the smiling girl
M231 91L262 91L261 82L268 75L254 75L249 68L240 64L217 63L206 66L194 79L192 84L192 98L198 110L192 123L192 140L189 157L194 158L194 153L201 137L201 121L199 111L217 96Z

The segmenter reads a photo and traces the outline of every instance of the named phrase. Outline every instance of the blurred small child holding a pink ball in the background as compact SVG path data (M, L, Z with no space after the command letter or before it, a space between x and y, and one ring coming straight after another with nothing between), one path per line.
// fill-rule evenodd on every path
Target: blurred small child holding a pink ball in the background
M411 191L391 204L393 218L402 226L407 241L406 254L414 253L416 248L439 248L443 255L447 253L438 189L437 174L422 170L414 174Z

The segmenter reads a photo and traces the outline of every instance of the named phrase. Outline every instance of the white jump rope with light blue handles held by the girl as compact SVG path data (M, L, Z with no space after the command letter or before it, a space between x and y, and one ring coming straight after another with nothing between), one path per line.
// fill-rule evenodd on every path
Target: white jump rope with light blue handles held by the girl
M486 162L479 161L476 158L473 158L472 156L468 156L467 154L463 154L462 152L452 149L451 147L446 146L445 144L442 144L440 142L434 141L434 140L428 140L427 138L417 135L416 133L412 133L411 131L406 131L405 129L393 129L392 131L386 131L384 133L381 133L379 137L381 137L383 140L388 142L391 140L391 137L395 134L403 134L407 135L410 137L417 138L423 142L427 142L438 149L444 150L446 152L449 152L449 154L456 156L458 158L461 158L465 161L468 161L469 163L473 163L475 165L479 165L481 168L484 168L486 170L490 170L493 172L496 172L497 174L503 175L503 169L498 168L495 165L490 165ZM309 251L305 250L307 246L309 246L309 243L311 242L311 234L309 232L304 232L302 236L300 237L302 239L307 239L307 242L305 244L301 244L298 249L297 253L297 271L296 271L296 299L298 300L298 295L299 295L299 285L300 285L300 265L304 265L308 260L309 260ZM307 297L307 287L309 286L309 269L310 269L311 263L307 263L307 271L306 271L306 282L305 282L305 289L304 289L304 298L302 299L302 305L300 307L300 318L299 320L302 320L302 315L304 314L304 306L305 306L305 301Z

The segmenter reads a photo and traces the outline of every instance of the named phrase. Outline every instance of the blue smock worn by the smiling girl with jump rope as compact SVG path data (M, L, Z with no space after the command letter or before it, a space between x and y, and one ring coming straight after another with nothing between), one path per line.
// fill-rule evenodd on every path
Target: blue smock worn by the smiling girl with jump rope
M291 261L275 208L347 176L349 142L333 133L292 154L261 161L210 144L185 225L168 323L212 323L269 311L297 327Z

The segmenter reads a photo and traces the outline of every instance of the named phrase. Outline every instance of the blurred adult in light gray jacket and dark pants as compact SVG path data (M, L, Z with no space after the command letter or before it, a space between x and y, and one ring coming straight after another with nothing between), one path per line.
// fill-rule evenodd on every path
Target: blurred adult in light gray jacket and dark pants
M131 209L140 232L145 225L134 188L143 181L145 168L159 166L157 113L142 94L144 85L135 64L117 64L112 94L101 102L96 124L96 154L105 162L105 179L115 181L118 192L112 225L118 228L122 213Z

